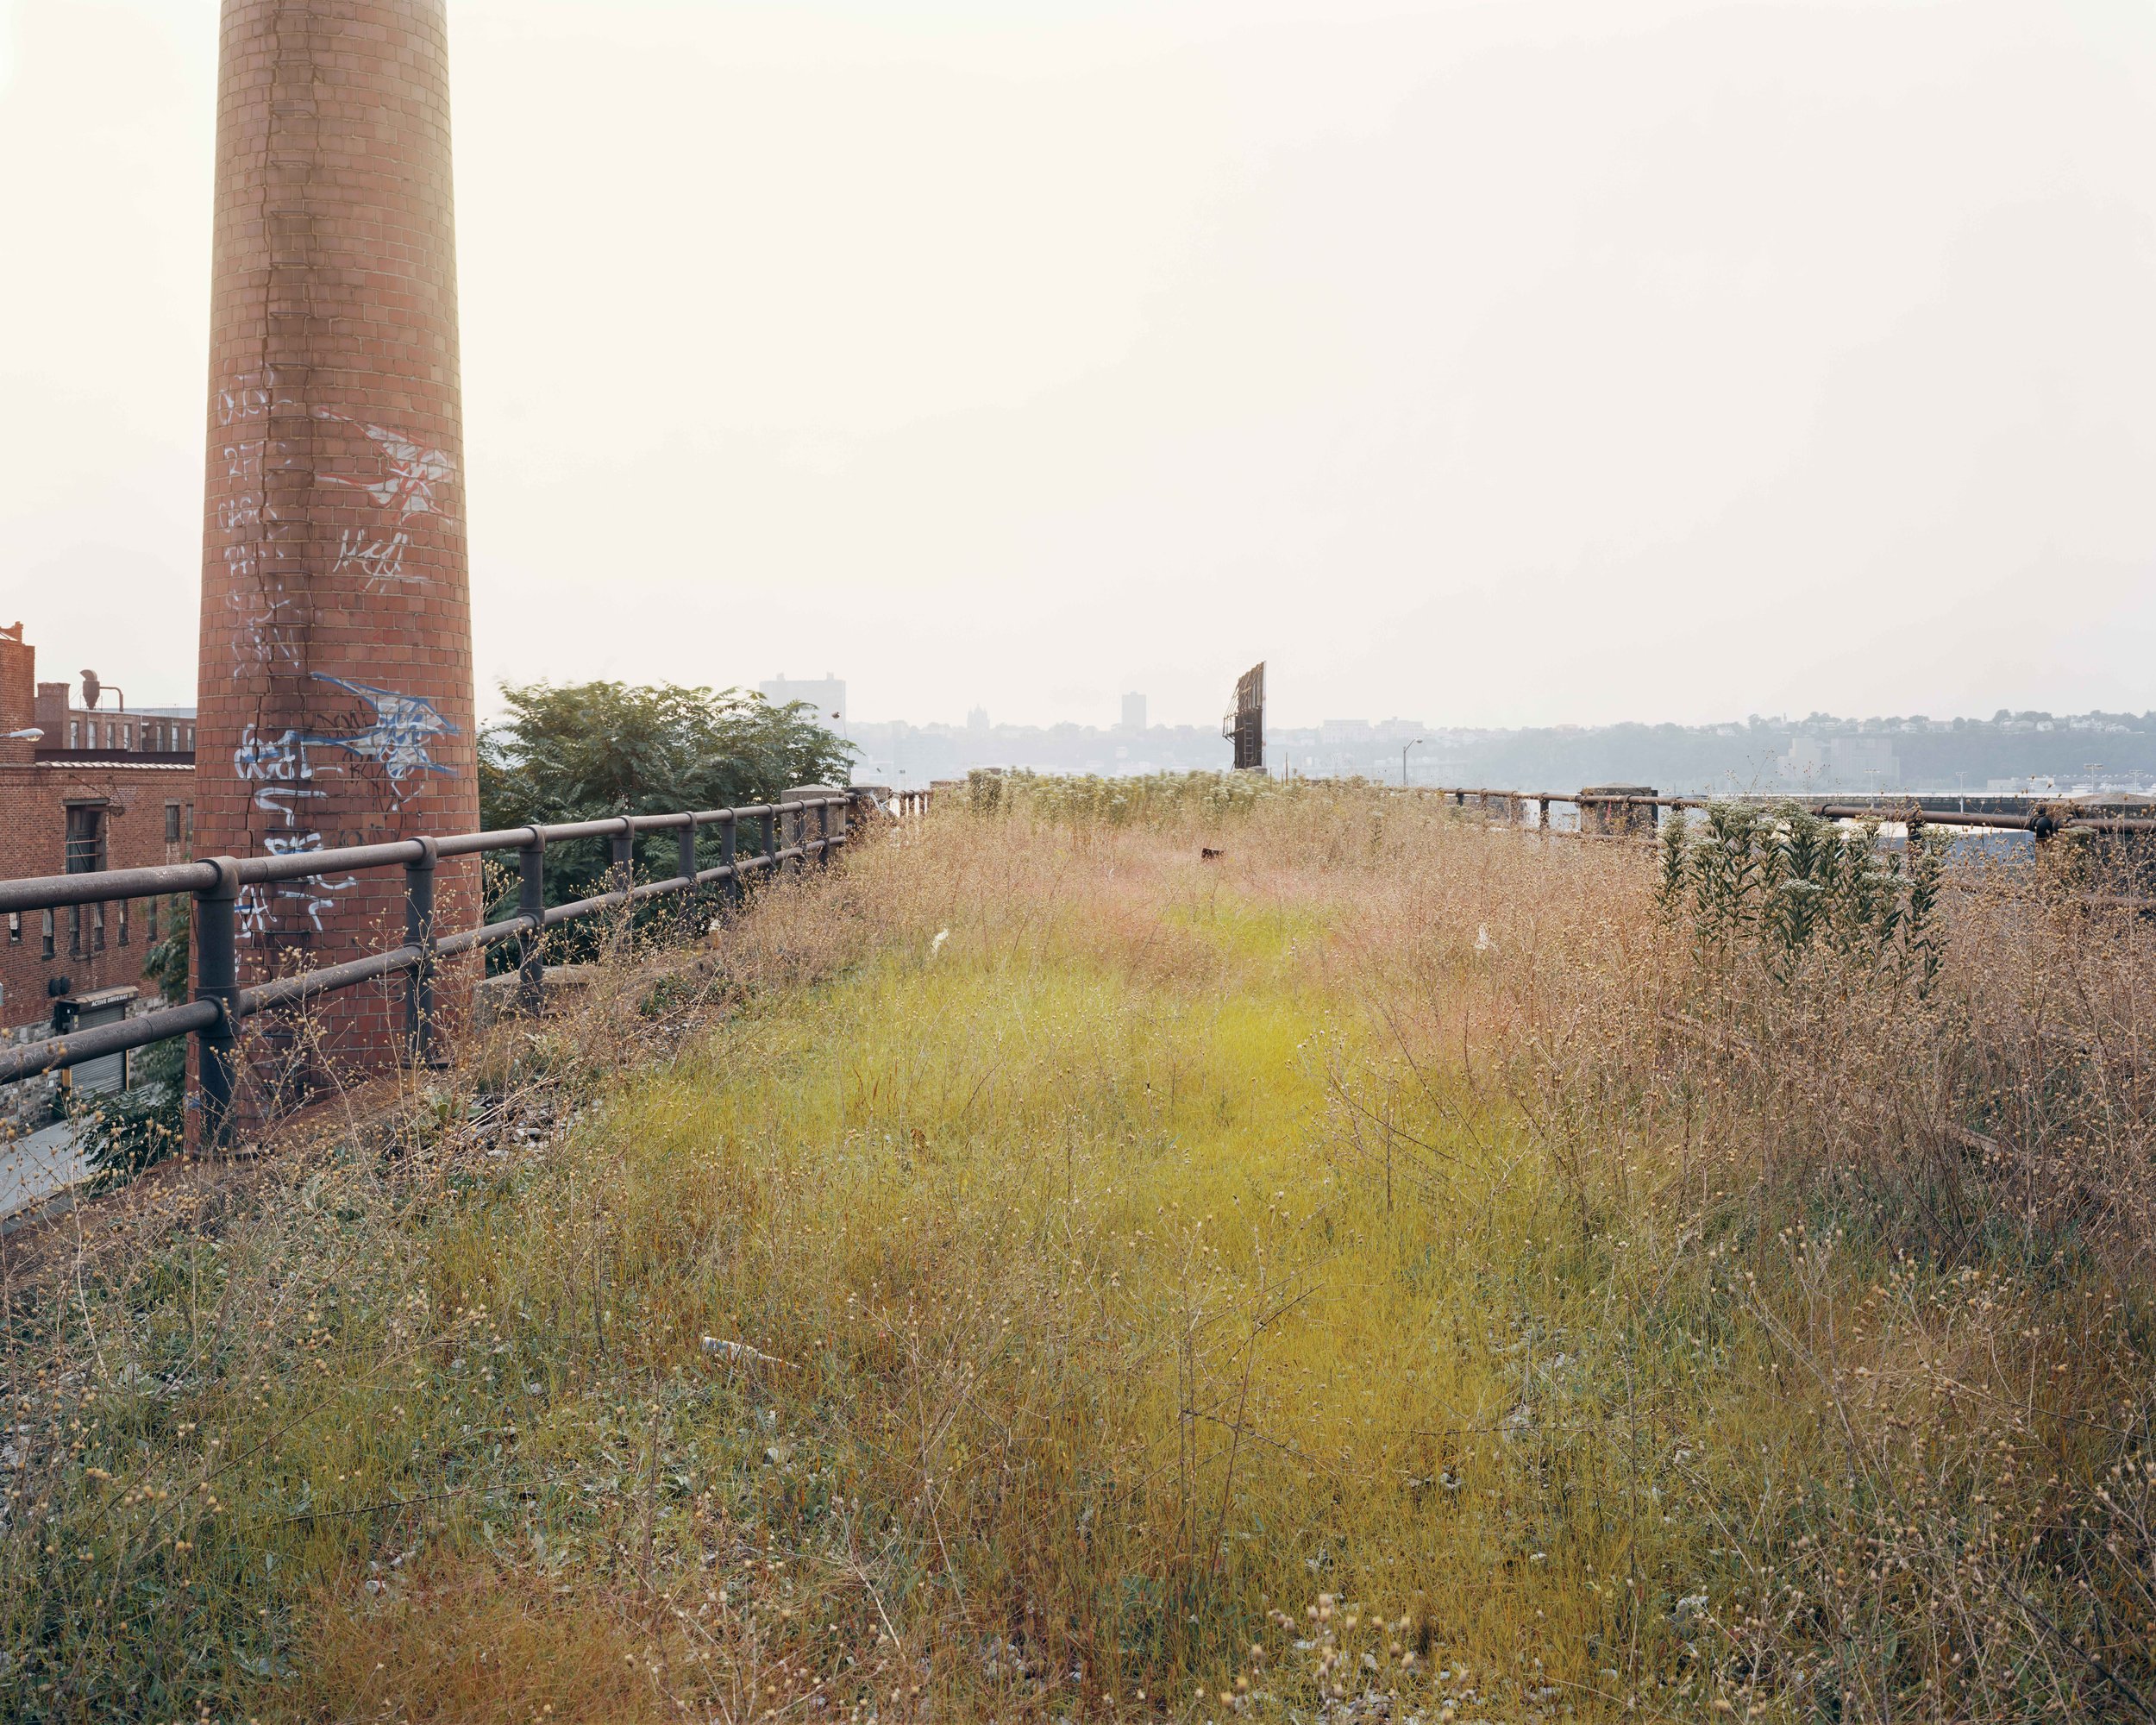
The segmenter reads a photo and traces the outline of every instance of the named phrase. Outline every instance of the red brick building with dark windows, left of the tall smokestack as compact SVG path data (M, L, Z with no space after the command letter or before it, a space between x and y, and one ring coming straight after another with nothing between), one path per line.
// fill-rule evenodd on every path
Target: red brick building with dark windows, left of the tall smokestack
M95 707L37 679L22 623L0 627L0 878L181 862L194 841L194 714ZM0 1033L43 1035L54 1005L84 1024L142 1000L166 906L26 910L0 929ZM17 1087L30 1089L30 1087ZM0 1113L13 1113L0 1100Z

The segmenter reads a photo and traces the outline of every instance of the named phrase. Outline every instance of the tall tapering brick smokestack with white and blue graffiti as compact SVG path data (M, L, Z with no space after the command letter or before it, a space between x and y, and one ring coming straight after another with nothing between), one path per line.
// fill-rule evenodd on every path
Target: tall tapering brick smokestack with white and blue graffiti
M446 0L224 0L198 705L198 856L479 822ZM395 944L401 886L250 888L244 979ZM472 865L438 895L466 925ZM395 1052L395 992L317 1022L257 1074Z

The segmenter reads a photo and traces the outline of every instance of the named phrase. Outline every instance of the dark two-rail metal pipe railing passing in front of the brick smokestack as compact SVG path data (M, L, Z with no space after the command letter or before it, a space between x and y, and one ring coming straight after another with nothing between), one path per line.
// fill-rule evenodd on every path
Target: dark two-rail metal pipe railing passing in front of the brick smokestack
M414 1065L431 1065L442 1059L436 1035L436 977L440 962L459 953L492 947L498 940L517 942L517 1005L535 1011L545 998L545 966L541 936L550 927L593 916L604 910L660 899L671 893L683 895L681 925L694 925L696 893L707 886L724 888L729 908L742 903L744 880L752 873L776 873L787 865L819 867L830 854L845 845L845 811L852 796L802 796L787 802L755 802L742 809L681 809L666 815L610 815L595 822L558 822L554 826L517 826L500 832L459 832L444 839L397 839L382 845L347 845L343 850L293 852L285 856L216 856L203 862L170 862L155 869L101 869L73 875L34 875L28 880L0 880L0 912L6 910L58 910L63 906L112 903L119 899L149 899L177 893L194 897L194 998L185 1005L157 1007L116 1024L99 1024L91 1031L69 1031L67 1035L28 1041L15 1048L0 1048L0 1082L37 1078L45 1072L60 1072L82 1061L119 1054L129 1048L147 1048L166 1037L192 1035L196 1039L196 1082L203 1106L203 1136L218 1143L231 1123L233 1095L239 1080L237 1041L239 1026L254 1013L298 1007L341 988L375 981L382 977L405 977L403 1041L405 1059ZM895 798L893 815L916 817L927 811L925 791L906 791ZM815 830L808 830L808 815L815 815ZM780 834L780 819L791 819L798 828ZM759 854L737 852L737 830L744 819L759 824ZM714 869L696 867L696 834L718 828L720 862ZM638 832L679 834L675 852L675 873L636 882L634 845ZM789 843L780 843L780 837ZM571 839L610 839L612 867L608 880L612 891L597 893L576 903L545 903L545 847ZM436 927L436 869L442 858L481 856L485 852L517 852L517 910L498 923L481 923L472 929L440 934ZM343 964L300 970L263 983L239 983L239 932L237 901L246 886L310 880L315 875L356 873L360 869L401 867L405 875L405 938L403 944Z

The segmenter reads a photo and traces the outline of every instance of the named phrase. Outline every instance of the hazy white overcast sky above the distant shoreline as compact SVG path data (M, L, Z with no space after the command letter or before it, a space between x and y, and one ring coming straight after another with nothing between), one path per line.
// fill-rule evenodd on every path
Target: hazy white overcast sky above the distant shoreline
M213 0L0 0L0 621L188 699ZM498 677L2156 705L2143 0L451 0Z

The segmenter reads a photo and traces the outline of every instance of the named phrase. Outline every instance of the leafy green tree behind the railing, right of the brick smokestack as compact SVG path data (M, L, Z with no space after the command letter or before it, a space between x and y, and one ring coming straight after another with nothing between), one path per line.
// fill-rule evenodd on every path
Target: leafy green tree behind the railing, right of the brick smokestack
M666 815L770 802L789 785L843 785L854 746L806 701L679 684L502 684L509 716L479 737L479 819L487 828ZM718 834L705 828L703 865ZM548 901L606 891L604 839L550 845ZM638 875L675 871L675 834L640 834ZM513 884L496 899L507 914Z

